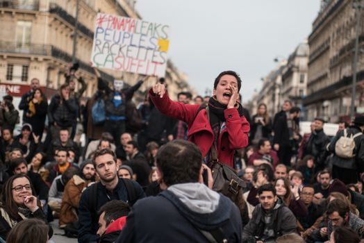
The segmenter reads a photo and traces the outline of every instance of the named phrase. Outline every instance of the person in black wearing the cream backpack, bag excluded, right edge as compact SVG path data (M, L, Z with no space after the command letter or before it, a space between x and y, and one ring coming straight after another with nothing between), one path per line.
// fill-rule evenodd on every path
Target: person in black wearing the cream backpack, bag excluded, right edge
M338 178L345 184L357 183L358 175L364 171L364 115L357 116L354 119L354 125L349 126L344 131L340 131L328 146L328 151L333 153L331 159L333 163L332 176ZM336 143L341 137L354 137L355 147L352 156L349 158L340 157L336 151Z

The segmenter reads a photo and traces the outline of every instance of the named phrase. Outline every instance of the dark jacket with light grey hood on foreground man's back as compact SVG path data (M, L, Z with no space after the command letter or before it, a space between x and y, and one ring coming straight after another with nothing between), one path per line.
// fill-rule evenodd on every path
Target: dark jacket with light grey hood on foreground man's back
M222 229L228 242L241 242L238 208L204 184L183 183L135 203L116 242L203 243L210 241L199 229L217 228Z

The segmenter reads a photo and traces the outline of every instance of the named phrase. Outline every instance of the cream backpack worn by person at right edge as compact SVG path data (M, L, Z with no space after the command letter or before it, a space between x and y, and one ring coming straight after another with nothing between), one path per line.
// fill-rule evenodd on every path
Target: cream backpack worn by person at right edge
M336 156L340 158L354 158L355 141L354 138L362 135L363 133L347 134L347 129L344 130L344 135L341 136L335 144Z

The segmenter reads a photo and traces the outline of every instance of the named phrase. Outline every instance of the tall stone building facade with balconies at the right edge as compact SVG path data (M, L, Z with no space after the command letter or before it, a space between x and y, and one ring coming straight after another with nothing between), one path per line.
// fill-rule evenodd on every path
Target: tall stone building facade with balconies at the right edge
M361 10L357 62L356 112L364 112L364 15ZM353 0L322 0L308 37L307 119L348 120L351 107L352 67L356 37Z

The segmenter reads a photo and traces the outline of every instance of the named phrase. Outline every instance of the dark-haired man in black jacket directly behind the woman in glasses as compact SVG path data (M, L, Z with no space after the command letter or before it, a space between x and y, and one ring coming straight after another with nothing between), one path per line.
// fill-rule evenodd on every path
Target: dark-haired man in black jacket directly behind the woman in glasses
M13 174L23 174L28 176L31 179L32 186L37 193L38 199L43 205L46 205L46 202L48 201L49 188L42 180L42 177L40 177L40 174L28 170L28 166L24 158L16 158L15 160L11 160L10 170L13 172Z

